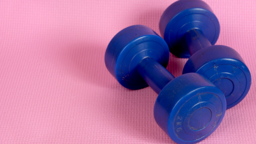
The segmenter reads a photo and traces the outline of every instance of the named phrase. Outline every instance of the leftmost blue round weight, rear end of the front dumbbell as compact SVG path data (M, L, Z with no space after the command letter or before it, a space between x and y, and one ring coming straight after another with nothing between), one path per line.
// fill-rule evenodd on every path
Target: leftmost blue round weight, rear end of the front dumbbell
M147 83L139 75L139 62L150 57L167 66L169 49L165 41L152 29L134 25L118 32L107 46L105 64L117 81L128 89L141 89Z

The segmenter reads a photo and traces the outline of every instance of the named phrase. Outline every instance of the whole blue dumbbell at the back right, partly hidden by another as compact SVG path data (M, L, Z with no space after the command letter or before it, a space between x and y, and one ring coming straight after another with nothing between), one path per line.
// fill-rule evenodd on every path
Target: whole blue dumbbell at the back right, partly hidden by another
M183 74L198 73L208 78L225 95L227 109L242 101L251 87L251 74L233 48L214 45L219 21L202 0L178 0L160 18L160 33L170 52L190 58Z

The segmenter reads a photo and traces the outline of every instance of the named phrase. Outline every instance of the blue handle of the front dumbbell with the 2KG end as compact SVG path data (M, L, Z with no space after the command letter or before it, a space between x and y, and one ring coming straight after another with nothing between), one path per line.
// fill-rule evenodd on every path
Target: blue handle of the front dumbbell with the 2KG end
M165 67L149 57L140 61L137 70L157 94L175 78Z

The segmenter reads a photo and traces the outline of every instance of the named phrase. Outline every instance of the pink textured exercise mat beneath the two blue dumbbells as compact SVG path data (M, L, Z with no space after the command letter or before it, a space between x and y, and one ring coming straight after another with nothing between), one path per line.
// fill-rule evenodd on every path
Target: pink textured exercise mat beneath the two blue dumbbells
M131 91L104 53L125 27L159 33L175 0L0 0L0 144L173 144L153 117L157 94ZM256 0L204 0L219 18L217 44L240 53L251 90L201 144L256 143ZM181 75L187 59L171 54Z

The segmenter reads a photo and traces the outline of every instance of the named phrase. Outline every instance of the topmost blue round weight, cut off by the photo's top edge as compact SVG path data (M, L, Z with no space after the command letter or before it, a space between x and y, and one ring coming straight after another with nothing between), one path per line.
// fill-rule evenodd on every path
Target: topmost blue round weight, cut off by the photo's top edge
M170 52L180 58L189 58L190 53L184 40L187 31L200 29L214 45L219 37L219 21L211 8L202 0L178 0L163 13L159 23Z

